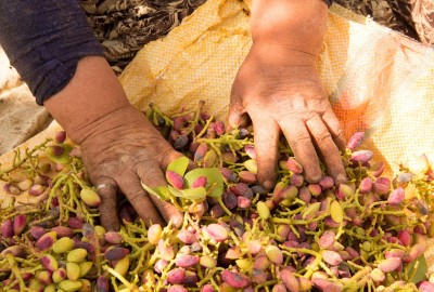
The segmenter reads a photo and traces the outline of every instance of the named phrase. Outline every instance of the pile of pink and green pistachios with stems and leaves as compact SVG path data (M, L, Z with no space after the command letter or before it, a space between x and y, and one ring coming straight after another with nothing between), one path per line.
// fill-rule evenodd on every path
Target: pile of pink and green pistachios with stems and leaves
M424 252L434 236L434 171L385 164L350 137L347 184L323 168L304 178L288 143L279 177L257 182L252 129L204 110L144 112L182 157L167 185L143 188L183 212L180 227L145 226L119 196L119 231L99 221L101 198L64 132L0 165L0 291L434 291ZM194 161L196 169L190 170ZM35 202L20 201L28 194Z

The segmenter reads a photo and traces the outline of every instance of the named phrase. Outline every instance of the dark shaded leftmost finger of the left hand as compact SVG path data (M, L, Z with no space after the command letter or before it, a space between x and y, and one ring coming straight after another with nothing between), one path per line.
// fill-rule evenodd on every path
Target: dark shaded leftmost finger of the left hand
M119 218L116 212L116 201L118 188L111 178L101 178L95 183L97 193L101 197L98 207L100 211L101 224L107 230L119 230Z

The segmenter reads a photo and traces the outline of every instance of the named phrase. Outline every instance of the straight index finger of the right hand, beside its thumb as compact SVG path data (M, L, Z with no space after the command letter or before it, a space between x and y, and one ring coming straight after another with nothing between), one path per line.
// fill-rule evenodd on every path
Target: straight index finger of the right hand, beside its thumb
M277 177L277 163L278 163L278 143L280 129L277 122L270 118L253 119L253 129L255 133L255 150L257 154L258 173L257 177L259 183L267 189L275 186Z

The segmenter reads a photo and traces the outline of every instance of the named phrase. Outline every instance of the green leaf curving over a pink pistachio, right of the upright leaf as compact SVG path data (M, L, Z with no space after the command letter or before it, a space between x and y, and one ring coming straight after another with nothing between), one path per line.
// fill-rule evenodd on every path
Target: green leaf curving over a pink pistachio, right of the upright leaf
M187 187L190 187L191 184L200 176L206 176L206 186L205 189L209 189L210 186L214 186L214 189L208 194L209 197L218 198L224 193L224 176L221 172L217 168L205 168L205 169L195 169L189 171L184 178L187 182Z

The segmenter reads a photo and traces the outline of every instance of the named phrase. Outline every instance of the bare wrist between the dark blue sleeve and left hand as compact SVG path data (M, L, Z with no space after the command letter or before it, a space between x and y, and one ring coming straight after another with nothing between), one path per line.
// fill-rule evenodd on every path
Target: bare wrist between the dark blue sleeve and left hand
M80 59L68 84L43 105L77 144L107 118L136 110L106 61L98 56Z

